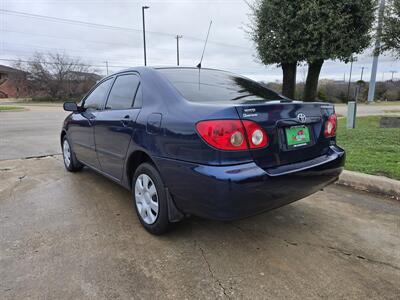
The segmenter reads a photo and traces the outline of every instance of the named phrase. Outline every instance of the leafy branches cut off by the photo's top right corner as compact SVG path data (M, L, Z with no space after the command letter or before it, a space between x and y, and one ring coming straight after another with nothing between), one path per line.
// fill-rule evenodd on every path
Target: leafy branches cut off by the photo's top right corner
M391 51L400 59L400 0L388 3L382 32L382 51Z

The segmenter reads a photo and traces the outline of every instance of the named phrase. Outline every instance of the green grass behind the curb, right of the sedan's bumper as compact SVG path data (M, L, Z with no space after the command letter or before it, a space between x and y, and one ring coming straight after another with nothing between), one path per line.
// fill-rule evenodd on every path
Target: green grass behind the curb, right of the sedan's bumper
M337 143L346 150L347 170L400 180L400 128L380 128L379 116L359 117L355 129L339 119Z

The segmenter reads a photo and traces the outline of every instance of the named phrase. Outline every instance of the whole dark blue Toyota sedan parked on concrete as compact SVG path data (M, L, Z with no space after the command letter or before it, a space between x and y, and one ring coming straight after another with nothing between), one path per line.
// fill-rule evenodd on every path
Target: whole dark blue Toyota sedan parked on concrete
M131 190L154 234L189 215L233 220L299 200L345 161L332 105L220 70L132 68L64 109L67 170L87 166Z

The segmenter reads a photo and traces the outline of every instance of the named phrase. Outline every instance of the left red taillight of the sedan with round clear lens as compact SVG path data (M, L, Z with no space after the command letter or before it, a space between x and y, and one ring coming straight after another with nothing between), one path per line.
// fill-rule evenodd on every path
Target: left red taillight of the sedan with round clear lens
M196 124L197 132L211 146L220 150L247 150L268 144L265 131L251 121L209 120Z

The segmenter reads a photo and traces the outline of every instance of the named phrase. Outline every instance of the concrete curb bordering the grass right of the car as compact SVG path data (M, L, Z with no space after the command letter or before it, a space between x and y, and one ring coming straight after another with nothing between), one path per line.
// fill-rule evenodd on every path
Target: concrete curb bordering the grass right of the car
M337 184L350 186L358 190L384 194L400 200L400 181L384 176L345 170L340 175Z

